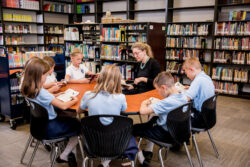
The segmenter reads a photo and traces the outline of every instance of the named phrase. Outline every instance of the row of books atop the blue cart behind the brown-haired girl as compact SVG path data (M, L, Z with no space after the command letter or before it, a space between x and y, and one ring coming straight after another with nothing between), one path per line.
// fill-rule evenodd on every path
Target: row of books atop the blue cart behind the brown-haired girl
M26 53L9 53L9 67L23 67L27 60L31 57L44 57L44 56L55 56L55 52L52 51L40 51L40 52L26 52Z

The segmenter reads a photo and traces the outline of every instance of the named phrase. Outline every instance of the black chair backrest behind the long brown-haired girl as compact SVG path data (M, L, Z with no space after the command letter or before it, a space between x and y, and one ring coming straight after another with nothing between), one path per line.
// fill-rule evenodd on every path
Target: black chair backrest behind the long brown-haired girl
M45 139L47 124L49 121L47 110L36 102L30 103L30 133L38 139Z

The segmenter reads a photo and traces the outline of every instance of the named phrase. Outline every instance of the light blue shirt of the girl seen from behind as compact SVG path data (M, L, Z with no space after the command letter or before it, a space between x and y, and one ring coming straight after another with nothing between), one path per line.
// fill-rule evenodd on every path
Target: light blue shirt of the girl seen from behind
M101 91L95 97L95 93L87 91L80 103L82 110L88 109L89 115L120 115L127 109L127 101L124 94L109 94ZM93 98L94 97L94 98ZM108 125L113 118L101 118L101 123Z

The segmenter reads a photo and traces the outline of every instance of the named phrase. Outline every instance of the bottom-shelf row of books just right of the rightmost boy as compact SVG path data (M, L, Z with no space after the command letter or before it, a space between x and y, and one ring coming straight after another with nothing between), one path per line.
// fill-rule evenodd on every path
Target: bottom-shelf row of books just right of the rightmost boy
M214 81L215 91L223 94L237 95L239 86L235 83Z

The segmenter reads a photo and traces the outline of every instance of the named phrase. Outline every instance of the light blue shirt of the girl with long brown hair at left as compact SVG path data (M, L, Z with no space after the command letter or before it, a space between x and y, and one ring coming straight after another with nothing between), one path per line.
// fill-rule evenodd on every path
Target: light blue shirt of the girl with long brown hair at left
M43 87L41 88L39 94L35 97L35 99L30 99L33 102L36 102L43 106L48 114L49 114L49 120L55 119L57 117L57 113L54 110L53 105L51 104L52 100L55 98L49 91L44 89Z

